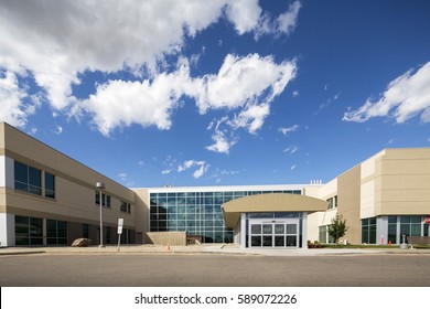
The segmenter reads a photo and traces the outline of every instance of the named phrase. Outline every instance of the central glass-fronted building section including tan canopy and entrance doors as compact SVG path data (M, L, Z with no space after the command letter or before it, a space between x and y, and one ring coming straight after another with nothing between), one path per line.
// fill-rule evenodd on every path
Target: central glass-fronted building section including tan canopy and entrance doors
M304 196L304 187L149 189L150 231L186 231L203 243L302 248L308 213L326 209L325 201Z

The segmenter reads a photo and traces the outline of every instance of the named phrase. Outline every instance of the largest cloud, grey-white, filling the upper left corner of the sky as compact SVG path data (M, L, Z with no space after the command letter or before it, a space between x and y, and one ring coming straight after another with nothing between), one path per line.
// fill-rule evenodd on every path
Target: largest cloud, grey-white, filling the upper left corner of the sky
M261 8L257 0L7 1L0 10L0 67L30 72L61 110L76 103L72 85L80 83L79 73L157 72L157 63L178 54L186 36L223 17L244 34L258 26Z

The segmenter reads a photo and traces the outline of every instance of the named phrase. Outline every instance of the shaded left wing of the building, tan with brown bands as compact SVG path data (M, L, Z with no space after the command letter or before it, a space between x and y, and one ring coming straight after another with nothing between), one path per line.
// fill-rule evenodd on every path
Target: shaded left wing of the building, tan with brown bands
M0 124L0 242L2 246L99 244L99 192L105 244L142 242L144 206L133 191L18 129Z

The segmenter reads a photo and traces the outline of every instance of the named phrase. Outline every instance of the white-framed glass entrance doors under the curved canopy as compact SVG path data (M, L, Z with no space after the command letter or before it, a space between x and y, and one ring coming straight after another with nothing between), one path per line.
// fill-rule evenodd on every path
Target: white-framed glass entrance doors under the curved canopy
M249 247L298 247L299 224L290 221L250 221Z

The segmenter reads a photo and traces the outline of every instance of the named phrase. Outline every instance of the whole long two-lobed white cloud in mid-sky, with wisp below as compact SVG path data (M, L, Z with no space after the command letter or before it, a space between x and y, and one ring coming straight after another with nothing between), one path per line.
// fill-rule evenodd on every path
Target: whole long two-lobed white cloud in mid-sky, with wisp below
M99 85L96 94L79 105L79 110L89 113L106 136L117 127L132 124L170 129L180 98L187 96L196 102L201 114L211 109L237 111L223 122L229 128L245 128L255 134L270 114L270 103L294 78L295 70L293 61L277 64L272 57L257 54L244 57L229 54L218 74L193 78L187 61L182 60L176 71L159 74L153 81L109 81ZM235 139L227 141L218 127L219 124L213 134L215 143L207 149L228 153Z

